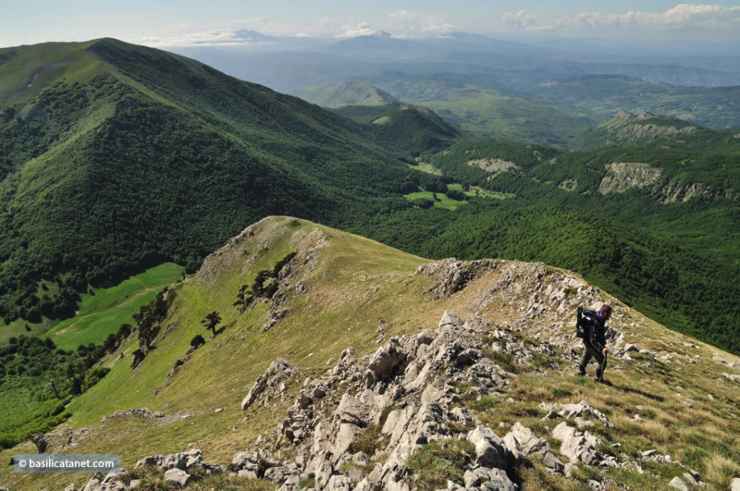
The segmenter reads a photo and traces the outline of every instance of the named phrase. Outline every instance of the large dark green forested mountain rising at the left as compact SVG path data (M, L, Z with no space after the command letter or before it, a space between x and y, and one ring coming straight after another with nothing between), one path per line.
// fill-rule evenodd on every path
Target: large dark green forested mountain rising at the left
M331 221L405 167L364 127L193 60L112 39L2 50L0 313L193 267L269 213Z

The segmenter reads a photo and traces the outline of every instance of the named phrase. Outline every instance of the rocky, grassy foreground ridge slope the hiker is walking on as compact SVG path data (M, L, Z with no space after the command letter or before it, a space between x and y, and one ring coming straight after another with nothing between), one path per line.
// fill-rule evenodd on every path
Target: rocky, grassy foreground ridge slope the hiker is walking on
M47 435L50 451L120 455L120 489L174 489L172 466L192 489L727 489L740 475L740 360L563 270L429 262L273 217L161 298L156 349L132 369L133 333ZM597 385L574 374L572 318L604 301L611 383ZM0 468L21 490L89 479Z

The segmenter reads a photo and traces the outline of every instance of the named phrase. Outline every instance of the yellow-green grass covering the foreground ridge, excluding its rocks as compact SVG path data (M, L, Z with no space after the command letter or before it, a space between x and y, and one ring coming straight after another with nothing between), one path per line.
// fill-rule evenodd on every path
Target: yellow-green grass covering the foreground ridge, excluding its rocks
M274 428L291 403L288 396L269 408L250 409L246 420L239 410L239 402L248 388L275 358L284 357L300 368L301 377L288 388L288 394L294 394L303 376L322 373L327 362L336 361L344 348L352 346L360 355L374 350L379 320L387 322L390 336L436 326L439 316L448 308L470 315L486 285L498 281L493 275L450 299L433 301L425 294L429 279L414 274L416 267L424 262L418 257L289 218L263 221L255 230L252 239L242 240L213 256L199 275L177 287L177 299L164 323L172 327L166 329L167 334L156 343L157 349L139 369L132 372L129 367L134 349L133 343L129 343L126 357L118 360L115 356L109 360L110 374L71 405L70 426L84 426L92 432L75 451L116 453L130 466L143 455L197 446L204 449L208 460L226 462L235 451ZM322 236L328 243L316 249ZM313 267L306 264L299 273L307 293L291 294L290 314L271 331L263 332L264 307L238 315L231 305L234 296L239 286L248 283L257 271L272 268L295 250L313 250L318 258ZM523 291L521 298L500 299L484 315L498 323L510 322L513 312L525 308L529 294ZM697 355L696 362L661 364L659 370L651 370L642 360L615 360L610 369L612 387L579 382L570 375L566 363L557 370L521 378L514 388L514 403L504 397L474 408L484 421L494 426L502 422L504 427L496 427L497 431L505 432L508 425L522 419L542 432L543 425L535 418L539 415L539 402L586 399L607 411L616 424L611 438L622 442L629 451L658 448L704 471L705 479L713 485L725 483L727 472L738 471L740 456L733 446L737 448L740 415L731 401L740 393L736 386L717 379L718 366L712 359L717 350L701 343L687 348L684 336L666 331L634 311L622 310L624 307L619 305L622 316L615 322L625 331L628 341L659 352ZM214 340L207 336L205 347L196 351L178 374L168 380L167 373L175 360L183 356L192 336L203 333L200 320L211 310L218 310L224 317L225 332ZM547 315L555 317L548 317L543 323L569 326L557 314ZM713 399L709 398L710 394ZM684 404L689 401L691 411L686 411ZM101 417L133 407L189 417L167 422L118 417L101 423ZM215 412L220 408L222 412ZM634 413L642 414L643 420L630 419ZM6 460L21 450L28 450L28 446L2 452L0 458ZM546 487L538 485L540 481L549 483L547 486L553 489L572 489L540 467L527 472L525 477L531 487L526 489ZM677 472L677 468L670 467L666 472ZM65 481L85 479L74 475L62 477ZM641 478L636 473L616 477L633 485L649 485L645 481L647 477ZM667 482L668 477L662 476L661 482L662 479ZM0 469L0 482L18 489L57 485L59 479L59 476L10 474L6 467Z

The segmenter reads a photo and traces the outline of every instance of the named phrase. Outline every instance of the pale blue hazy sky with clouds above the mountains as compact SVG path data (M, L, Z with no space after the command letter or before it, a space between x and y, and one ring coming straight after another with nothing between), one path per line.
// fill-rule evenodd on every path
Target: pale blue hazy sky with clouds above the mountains
M247 31L737 42L740 0L0 0L0 46L99 37L160 47L247 46L255 42Z

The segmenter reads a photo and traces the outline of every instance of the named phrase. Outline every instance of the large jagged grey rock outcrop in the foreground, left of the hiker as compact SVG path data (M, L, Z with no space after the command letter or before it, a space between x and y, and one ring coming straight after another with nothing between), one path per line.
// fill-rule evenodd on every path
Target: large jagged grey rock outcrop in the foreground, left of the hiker
M507 477L514 453L493 430L475 426L460 403L458 387L479 396L506 390L510 374L486 355L491 329L445 312L437 331L393 337L364 360L346 350L323 377L304 382L287 418L258 449L294 457L267 463L242 453L232 470L286 490L309 476L318 489L409 490L414 476L406 464L414 452L460 439L476 448L466 481L516 489Z

